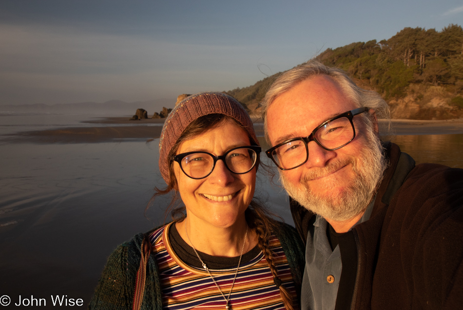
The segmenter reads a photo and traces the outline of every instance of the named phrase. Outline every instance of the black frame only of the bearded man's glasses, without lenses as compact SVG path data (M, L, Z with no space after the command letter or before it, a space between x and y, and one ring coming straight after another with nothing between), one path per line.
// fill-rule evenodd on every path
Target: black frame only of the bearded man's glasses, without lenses
M275 163L276 166L280 170L291 170L291 169L295 169L297 167L300 167L309 160L309 148L308 148L307 145L309 144L310 141L315 141L320 147L326 149L327 151L334 151L334 150L337 150L337 149L339 149L339 148L341 148L343 146L347 146L355 138L355 126L354 126L354 123L352 122L352 119L354 118L355 115L365 113L369 109L370 108L368 108L368 107L362 107L362 108L353 109L353 110L341 113L339 115L336 115L336 116L330 118L329 120L323 122L322 124L318 125L315 129L312 130L312 132L307 137L297 137L297 138L291 138L289 140L286 140L286 141L284 141L282 143L277 144L276 146L273 146L273 147L269 148L267 151L265 151L265 154L267 154L267 157L269 157L273 161L273 163ZM322 146L322 144L315 138L315 133L317 132L317 130L322 128L323 126L327 125L329 122L332 122L332 121L337 120L337 119L342 118L342 117L346 117L349 120L350 125L352 126L352 130L354 131L354 134L352 135L352 139L347 141L347 143L343 144L342 146L338 146L338 147L335 147L335 148L327 148L325 146ZM296 141L296 140L302 140L302 142L304 142L304 146L306 146L306 159L301 164L298 164L297 166L292 167L292 168L282 168L282 167L280 167L280 165L276 162L276 160L273 158L271 153L275 149L277 149L278 147L283 146L283 145L285 145L285 144L287 144L289 142Z

